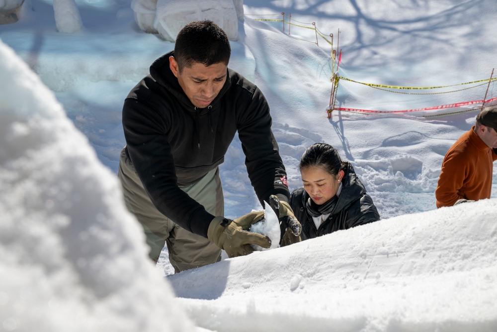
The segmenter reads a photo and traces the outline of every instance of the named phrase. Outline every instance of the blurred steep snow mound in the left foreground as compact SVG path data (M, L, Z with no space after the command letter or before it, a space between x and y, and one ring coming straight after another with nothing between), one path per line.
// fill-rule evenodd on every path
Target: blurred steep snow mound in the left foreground
M117 179L0 41L2 331L192 331Z

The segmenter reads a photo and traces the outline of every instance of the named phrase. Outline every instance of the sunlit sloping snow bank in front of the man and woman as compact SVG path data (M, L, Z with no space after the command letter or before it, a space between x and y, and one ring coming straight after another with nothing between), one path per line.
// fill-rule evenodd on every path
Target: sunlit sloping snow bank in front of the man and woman
M168 280L216 331L495 331L496 213L493 199L399 216Z

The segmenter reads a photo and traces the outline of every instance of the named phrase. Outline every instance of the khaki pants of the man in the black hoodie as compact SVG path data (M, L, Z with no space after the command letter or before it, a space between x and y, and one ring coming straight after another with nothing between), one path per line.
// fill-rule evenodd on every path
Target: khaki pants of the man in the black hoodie
M165 243L175 273L221 260L221 249L214 243L180 227L157 210L143 188L125 149L121 151L119 158L118 177L128 210L143 226L152 260L155 262L159 260ZM180 189L200 203L210 214L224 215L219 168L210 171L198 182Z

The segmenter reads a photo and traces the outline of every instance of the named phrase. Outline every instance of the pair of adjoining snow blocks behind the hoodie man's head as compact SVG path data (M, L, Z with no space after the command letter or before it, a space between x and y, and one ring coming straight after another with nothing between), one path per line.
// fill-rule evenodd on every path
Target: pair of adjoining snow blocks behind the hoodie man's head
M236 2L236 3L235 3ZM189 22L212 20L228 35L238 39L238 19L243 17L243 1L239 0L133 0L135 20L145 32L159 33L167 41L176 39ZM242 13L240 13L242 11Z

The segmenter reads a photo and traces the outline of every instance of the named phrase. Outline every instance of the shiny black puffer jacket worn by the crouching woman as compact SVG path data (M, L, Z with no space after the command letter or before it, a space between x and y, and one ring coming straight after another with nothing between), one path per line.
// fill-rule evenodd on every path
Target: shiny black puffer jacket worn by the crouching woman
M318 229L316 229L312 216L306 209L308 199L309 195L304 190L304 187L294 190L290 197L290 205L295 217L302 224L301 237L303 240L380 220L380 215L373 204L373 200L366 194L366 188L364 188L349 162L347 162L345 175L342 179L341 193L338 196L335 208Z

